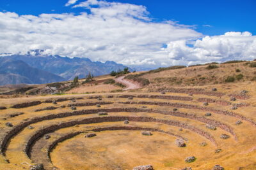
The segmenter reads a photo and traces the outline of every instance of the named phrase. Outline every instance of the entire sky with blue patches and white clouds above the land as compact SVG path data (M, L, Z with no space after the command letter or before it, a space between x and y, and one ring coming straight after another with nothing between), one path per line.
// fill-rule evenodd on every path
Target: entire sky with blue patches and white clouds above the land
M1 0L0 53L164 67L256 58L255 0Z

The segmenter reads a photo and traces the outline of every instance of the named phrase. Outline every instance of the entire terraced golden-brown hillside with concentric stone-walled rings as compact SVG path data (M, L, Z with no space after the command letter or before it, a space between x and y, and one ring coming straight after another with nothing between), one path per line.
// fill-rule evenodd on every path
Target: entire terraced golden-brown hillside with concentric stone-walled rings
M4 86L16 94L0 95L0 169L254 170L254 66L175 66ZM139 89L125 90L130 85Z

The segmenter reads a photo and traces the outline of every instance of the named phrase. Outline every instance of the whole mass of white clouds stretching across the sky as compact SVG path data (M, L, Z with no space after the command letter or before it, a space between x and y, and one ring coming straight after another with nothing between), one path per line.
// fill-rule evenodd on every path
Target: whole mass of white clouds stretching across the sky
M70 0L65 6L85 8L84 13L0 12L0 53L43 49L45 54L147 67L256 57L256 38L250 32L204 37L189 25L155 22L145 6L97 0L75 3Z

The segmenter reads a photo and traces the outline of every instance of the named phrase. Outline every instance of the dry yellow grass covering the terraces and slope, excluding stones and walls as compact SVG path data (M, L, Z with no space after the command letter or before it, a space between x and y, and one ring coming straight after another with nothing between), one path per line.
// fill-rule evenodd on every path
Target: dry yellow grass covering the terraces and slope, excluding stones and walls
M240 64L243 66L242 64ZM239 65L239 66L240 66ZM236 64L234 64L236 66ZM5 145L4 155L0 157L0 169L29 169L33 164L42 163L45 169L52 169L52 167L58 167L59 169L132 169L134 166L140 166L143 164L152 164L154 169L182 169L184 167L192 167L193 170L207 170L212 169L216 164L220 164L225 167L225 170L237 170L237 169L256 169L255 157L256 157L256 126L253 122L256 122L256 83L254 81L236 81L235 83L225 83L225 84L212 84L211 82L205 82L205 85L194 86L192 88L204 89L205 92L211 92L213 87L217 88L217 92L221 92L224 95L221 97L207 96L205 94L194 94L193 96L188 96L185 93L173 93L166 92L166 94L160 94L159 92L148 92L148 89L157 90L158 82L155 78L168 78L173 76L182 76L181 73L186 73L183 75L186 78L191 78L196 76L196 74L202 74L206 76L209 71L205 71L205 66L200 67L189 67L180 70L163 71L160 73L146 74L145 78L150 79L152 84L142 90L133 90L130 92L123 93L109 93L109 90L113 90L114 87L111 85L103 85L99 83L98 85L84 87L78 87L72 89L72 92L90 92L88 89L91 88L92 91L98 92L95 94L66 94L61 96L34 96L34 97L19 97L13 99L0 99L0 106L5 106L6 110L0 110L0 139L3 140L4 136L10 132L16 125L24 124L33 120L33 118L46 117L47 115L58 115L61 113L70 112L72 115L67 117L49 117L44 120L38 120L32 124L26 125L24 129L17 131L10 140L8 140L7 145ZM225 67L220 67L214 71L214 73L220 76L226 76L226 74L232 74L230 70L231 64L225 64ZM245 66L244 66L245 67ZM189 69L196 68L193 72ZM226 70L227 69L227 70ZM243 72L243 67L239 67ZM244 68L245 69L245 68ZM251 69L251 68L250 68ZM222 71L225 74L222 74ZM217 74L218 72L218 74ZM245 74L245 72L243 72ZM253 71L249 71L248 74L252 76ZM210 75L209 75L210 76ZM104 80L109 78L108 76L103 76L97 78L97 80ZM246 79L244 79L246 80ZM162 82L164 87L170 88L170 84L166 81ZM179 88L177 86L176 88ZM185 88L187 88L184 85ZM94 89L93 89L94 88ZM100 89L102 88L102 89ZM109 90L106 90L108 89ZM191 88L191 87L189 87ZM86 90L86 91L83 91ZM241 94L241 90L247 90L246 95L250 96L248 99L238 99L236 101L230 101L230 94ZM91 92L92 92L91 91ZM100 93L106 91L108 93ZM120 97L122 95L135 96L134 99L127 99L127 97ZM157 98L139 98L139 95L155 95L155 96L178 96L179 97L193 97L191 101L182 101L180 99L157 99ZM102 96L102 100L89 99L89 96ZM109 98L108 96L113 96ZM119 97L118 97L119 96ZM83 99L77 99L76 102L71 100L57 102L57 104L52 103L42 103L36 106L29 106L27 108L10 108L13 104L17 103L28 103L31 101L45 101L47 99L59 99L70 97L83 97ZM182 108L179 104L190 104L197 107L202 107L203 103L198 101L200 98L215 99L216 101L228 101L231 104L228 106L223 106L218 103L209 103L209 106L204 106L206 108L211 108L212 110L222 110L222 111L232 111L236 115L242 115L243 120L238 117L228 116L221 113L212 113L211 117L205 117L205 113L208 111L198 110L195 108ZM134 104L124 104L127 101L134 102ZM99 102L111 102L111 104L101 104L100 108L97 106L76 106L77 110L71 110L68 104L75 103L99 103ZM123 102L123 103L120 103ZM154 104L138 104L138 102L154 102ZM173 106L160 106L157 103L172 103ZM230 110L232 104L245 103L248 104L246 107L238 107L237 110ZM61 106L65 105L65 108ZM40 108L46 107L58 107L56 110L44 110L36 111ZM111 109L111 108L140 108L147 106L143 111L108 111L108 115L99 116L97 112L92 112L90 114L85 114L83 110L97 110L97 109ZM176 107L177 106L177 107ZM183 106L183 105L182 105ZM170 113L173 108L177 108L176 112L173 114L163 114L163 111ZM157 110L155 112L150 111ZM16 117L10 117L15 113L23 112L22 115L17 115ZM78 114L81 113L81 114ZM83 113L83 114L82 114ZM193 114L195 117L200 117L201 119L196 119L195 117L182 117L178 113L188 113ZM198 134L189 128L182 127L180 131L179 125L168 125L162 122L140 122L140 121L129 121L129 124L124 124L124 121L114 121L114 122L94 122L91 124L70 124L67 127L62 127L60 129L55 129L51 132L46 132L51 136L50 139L45 139L44 136L40 136L38 140L35 141L35 145L31 146L31 157L28 157L24 148L27 141L34 136L36 133L40 132L40 129L45 129L51 125L61 125L67 122L79 122L83 119L88 120L89 118L102 118L102 117L142 117L142 118L156 118L158 120L164 121L174 121L181 122L183 124L188 124L191 127L200 129L202 132L209 134L216 141L214 145L213 141L205 138L204 135ZM205 127L206 123L204 118L210 120L216 120L221 124L227 125L228 128L232 129L234 134L228 132L227 129L217 127L216 131L212 131ZM246 120L246 118L248 118ZM96 120L95 119L95 120ZM155 120L155 119L151 119ZM237 120L242 120L242 124L236 125ZM6 122L13 124L13 127L6 126ZM32 126L33 129L29 129L28 126ZM92 129L97 127L141 127L141 128L151 128L158 129L164 132L171 132L172 134L177 134L183 138L188 139L185 141L186 147L179 148L175 145L175 139L177 136L168 135L163 132L152 132L152 136L143 136L141 131L101 131L95 132L97 136L93 138L84 138L84 135L88 132L93 132ZM60 143L57 143L56 147L52 148L50 156L51 162L47 159L48 146L54 141L60 139L61 137L74 133L80 132L72 138L68 138ZM230 138L221 139L221 134L228 134ZM235 138L236 136L236 138ZM207 146L200 146L199 143L206 142ZM216 149L221 149L220 153L215 153ZM195 156L196 160L192 163L186 163L184 159L189 156ZM8 163L10 162L10 163Z

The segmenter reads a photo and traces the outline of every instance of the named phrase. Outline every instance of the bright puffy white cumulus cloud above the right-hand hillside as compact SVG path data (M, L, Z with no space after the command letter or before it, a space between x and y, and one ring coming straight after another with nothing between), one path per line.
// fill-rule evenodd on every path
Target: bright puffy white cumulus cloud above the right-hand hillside
M256 36L250 32L226 32L221 36L205 36L188 46L186 40L171 41L163 49L172 62L197 64L256 58Z

